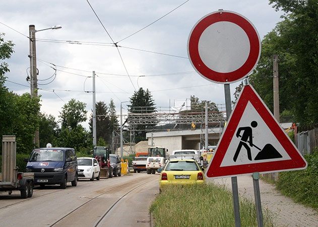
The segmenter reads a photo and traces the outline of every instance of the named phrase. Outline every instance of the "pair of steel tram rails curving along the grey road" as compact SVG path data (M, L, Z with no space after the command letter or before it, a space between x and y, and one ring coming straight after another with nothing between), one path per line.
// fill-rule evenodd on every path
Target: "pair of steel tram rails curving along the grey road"
M50 224L49 226L63 226L65 225L65 223L63 223L64 221L68 221L68 218L69 219L72 219L72 215L76 216L78 215L78 213L83 213L81 212L82 209L86 209L86 206L90 206L90 205L94 205L95 202L98 201L99 198L102 198L103 196L106 195L106 193L109 193L111 191L113 192L117 192L119 190L122 190L123 188L128 188L128 191L125 191L122 193L122 195L118 196L118 198L115 198L114 201L111 202L111 204L109 204L109 208L105 207L105 211L98 215L98 217L96 217L96 220L94 220L95 224L93 226L99 226L100 222L105 218L105 216L107 216L107 214L116 206L116 204L121 200L123 199L126 195L128 195L129 193L133 192L134 190L140 188L141 186L145 185L145 184L148 184L149 182L152 182L152 181L157 181L158 179L152 179L152 180L148 180L148 181L144 181L144 182L140 182L140 183L137 183L137 185L134 185L132 187L132 185L135 183L135 182L127 182L127 183L124 183L124 184L121 184L121 185L118 185L118 186L115 186L115 187L112 187L110 189L107 189L105 191L103 191L102 193L90 198L88 201L82 203L81 205L77 206L75 209L73 209L72 211L68 212L67 214L63 215L61 218L59 218L58 220L56 220L54 223ZM115 196L117 197L117 196ZM74 217L73 217L74 218Z

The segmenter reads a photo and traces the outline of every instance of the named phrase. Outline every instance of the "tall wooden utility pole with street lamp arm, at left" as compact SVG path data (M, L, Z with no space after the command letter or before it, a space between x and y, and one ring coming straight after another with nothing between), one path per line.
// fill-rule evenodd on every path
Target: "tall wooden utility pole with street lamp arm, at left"
M31 98L38 97L37 93L37 68L36 68L36 47L35 47L35 33L39 31L44 31L48 29L59 29L62 28L60 25L55 25L50 28L35 30L34 25L29 25L29 39L30 39L30 95ZM34 132L34 143L35 146L40 145L40 138L39 138L39 129L37 128Z

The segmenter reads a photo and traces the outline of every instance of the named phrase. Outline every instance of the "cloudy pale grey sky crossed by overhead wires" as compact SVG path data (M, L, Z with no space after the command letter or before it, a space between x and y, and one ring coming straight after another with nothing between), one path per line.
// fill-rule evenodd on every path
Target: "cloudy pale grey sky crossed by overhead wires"
M52 114L56 119L61 107L72 98L86 103L91 113L92 93L85 93L84 90L92 91L92 79L87 77L92 76L93 70L97 74L96 102L108 104L113 99L118 113L120 102L129 101L135 89L140 87L149 89L157 107L168 107L169 103L173 106L175 101L188 99L191 95L200 100L224 104L224 86L203 79L187 58L187 39L193 26L203 16L224 9L249 19L263 39L282 15L266 0L89 0L89 3L109 35L86 0L11 0L2 3L0 22L23 34L0 24L0 32L6 33L5 40L15 43L15 52L7 60L11 71L6 76L8 81L21 85L6 82L10 91L17 94L30 92L30 85L26 81L30 66L29 40L26 37L29 36L29 25L35 25L36 30L62 26L58 30L37 32L37 39L82 43L36 42L38 79L50 78L54 74L50 63L57 65L55 80L38 82L39 88L47 90L39 90L41 112ZM178 6L178 9L155 22ZM117 48L106 44L114 42L121 46L118 50L124 64ZM141 75L145 77L138 77ZM49 84L40 85L46 83ZM231 84L232 95L238 83Z

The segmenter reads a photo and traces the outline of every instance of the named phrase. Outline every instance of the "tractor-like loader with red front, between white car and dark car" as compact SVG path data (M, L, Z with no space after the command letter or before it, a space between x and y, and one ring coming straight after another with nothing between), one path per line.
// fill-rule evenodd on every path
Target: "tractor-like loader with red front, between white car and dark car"
M112 177L112 167L110 166L110 148L107 146L94 146L93 158L97 159L100 168L100 178Z

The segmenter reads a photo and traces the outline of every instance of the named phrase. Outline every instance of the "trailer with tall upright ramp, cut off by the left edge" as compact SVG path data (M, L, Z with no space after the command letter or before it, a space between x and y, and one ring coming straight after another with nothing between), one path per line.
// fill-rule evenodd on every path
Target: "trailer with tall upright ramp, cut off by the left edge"
M2 140L2 172L0 173L0 191L19 190L21 198L33 195L34 173L18 172L16 166L17 144L15 135L4 135Z

